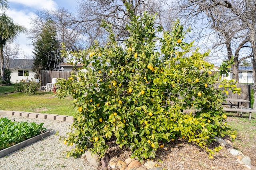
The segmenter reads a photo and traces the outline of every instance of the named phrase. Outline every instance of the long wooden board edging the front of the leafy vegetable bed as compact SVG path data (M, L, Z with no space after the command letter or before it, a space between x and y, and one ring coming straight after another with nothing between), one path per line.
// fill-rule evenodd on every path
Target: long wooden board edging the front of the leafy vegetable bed
M16 150L19 150L23 147L26 147L26 146L28 146L32 143L35 143L35 142L37 142L37 141L39 141L39 140L41 140L44 137L47 137L49 135L50 135L50 131L46 131L44 133L41 133L40 135L37 135L37 136L32 137L30 139L27 139L26 141L22 141L20 143L17 143L16 145L13 145L13 146L8 147L6 149L0 150L0 158L6 156L6 155L8 155L8 154L10 154L10 153L12 153Z

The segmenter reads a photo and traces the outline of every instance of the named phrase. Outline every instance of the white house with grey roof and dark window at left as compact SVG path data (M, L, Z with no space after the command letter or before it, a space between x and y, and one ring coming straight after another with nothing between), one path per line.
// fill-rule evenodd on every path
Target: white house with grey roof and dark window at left
M32 80L36 76L36 73L32 71L33 60L31 59L12 59L9 64L9 69L12 71L10 80L12 83L20 82L22 79Z

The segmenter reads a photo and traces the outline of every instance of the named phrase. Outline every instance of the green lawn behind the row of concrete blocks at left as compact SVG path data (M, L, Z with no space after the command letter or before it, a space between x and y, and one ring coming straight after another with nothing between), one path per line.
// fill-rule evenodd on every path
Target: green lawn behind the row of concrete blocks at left
M74 115L72 101L71 97L60 100L52 92L37 92L35 96L21 92L0 94L0 110Z

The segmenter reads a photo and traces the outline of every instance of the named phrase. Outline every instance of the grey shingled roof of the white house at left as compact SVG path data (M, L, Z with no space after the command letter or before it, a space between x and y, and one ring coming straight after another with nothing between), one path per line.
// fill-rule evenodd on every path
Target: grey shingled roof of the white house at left
M23 69L31 69L33 66L33 62L34 60L32 59L12 59L9 61L10 69L19 69L19 68L23 68Z

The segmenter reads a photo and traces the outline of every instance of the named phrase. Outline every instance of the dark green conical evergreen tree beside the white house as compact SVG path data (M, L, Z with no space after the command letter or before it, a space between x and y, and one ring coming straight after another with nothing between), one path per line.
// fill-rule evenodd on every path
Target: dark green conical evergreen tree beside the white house
M32 42L34 46L34 70L40 66L43 70L56 70L60 63L60 43L56 39L56 27L47 20L42 31Z

